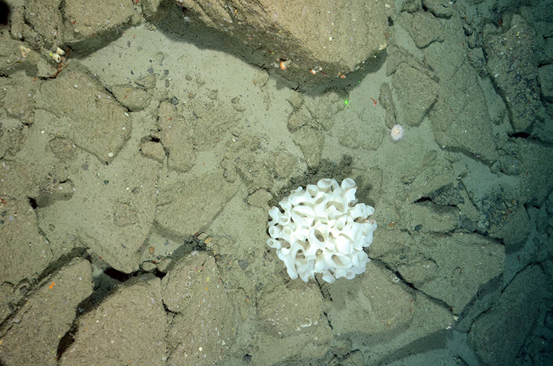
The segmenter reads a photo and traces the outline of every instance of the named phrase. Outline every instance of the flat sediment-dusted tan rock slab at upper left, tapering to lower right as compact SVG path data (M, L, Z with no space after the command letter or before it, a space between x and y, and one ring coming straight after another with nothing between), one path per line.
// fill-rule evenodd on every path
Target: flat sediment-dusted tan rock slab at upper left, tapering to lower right
M101 162L111 162L131 135L125 109L84 73L62 73L41 84L37 109L55 115L44 131L71 139Z

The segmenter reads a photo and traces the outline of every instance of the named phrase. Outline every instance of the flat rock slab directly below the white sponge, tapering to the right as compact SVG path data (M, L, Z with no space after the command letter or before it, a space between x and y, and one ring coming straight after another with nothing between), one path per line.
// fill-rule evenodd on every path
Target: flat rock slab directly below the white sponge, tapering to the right
M382 266L369 262L357 277L355 282L341 278L323 291L332 299L326 310L332 334L346 338L350 349L360 349L364 365L388 364L377 360L453 322L447 309L411 291ZM433 314L432 321L428 314Z

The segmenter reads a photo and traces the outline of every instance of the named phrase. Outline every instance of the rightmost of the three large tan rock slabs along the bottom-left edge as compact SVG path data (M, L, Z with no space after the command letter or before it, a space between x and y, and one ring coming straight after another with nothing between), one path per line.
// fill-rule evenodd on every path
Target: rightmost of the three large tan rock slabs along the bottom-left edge
M240 318L215 259L194 251L176 262L162 280L162 297L176 314L167 333L168 365L217 363L234 343Z

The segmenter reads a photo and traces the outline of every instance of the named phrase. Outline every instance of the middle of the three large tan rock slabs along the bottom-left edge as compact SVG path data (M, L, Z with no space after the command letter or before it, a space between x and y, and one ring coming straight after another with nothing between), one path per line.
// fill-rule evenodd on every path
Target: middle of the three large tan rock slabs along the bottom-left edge
M167 315L161 281L142 276L78 321L59 365L165 365Z

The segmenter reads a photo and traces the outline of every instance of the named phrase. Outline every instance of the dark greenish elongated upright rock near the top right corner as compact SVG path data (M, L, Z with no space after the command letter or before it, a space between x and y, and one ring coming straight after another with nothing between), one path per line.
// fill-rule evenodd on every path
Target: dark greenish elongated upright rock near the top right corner
M536 34L520 15L513 15L512 26L484 42L487 69L505 99L515 132L525 131L534 122L541 105L534 66Z

